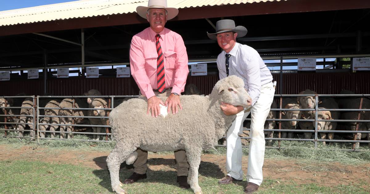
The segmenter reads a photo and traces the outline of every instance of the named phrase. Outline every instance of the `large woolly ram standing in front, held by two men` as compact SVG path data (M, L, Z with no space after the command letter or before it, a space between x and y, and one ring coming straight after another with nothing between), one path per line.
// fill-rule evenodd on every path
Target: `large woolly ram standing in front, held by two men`
M137 148L151 152L185 149L190 164L188 183L194 193L201 194L198 168L202 150L214 149L235 119L235 115L223 114L221 102L250 107L251 98L242 79L235 75L221 79L209 96L181 96L183 109L175 115L147 115L147 101L142 98L130 99L113 109L109 119L117 144L107 157L113 191L127 193L120 187L120 164L134 163Z

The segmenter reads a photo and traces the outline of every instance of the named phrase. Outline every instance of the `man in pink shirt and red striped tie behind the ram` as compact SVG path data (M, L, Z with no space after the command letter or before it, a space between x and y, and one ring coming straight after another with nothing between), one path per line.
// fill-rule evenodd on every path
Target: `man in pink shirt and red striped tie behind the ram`
M167 112L178 113L182 109L180 93L184 91L189 73L188 55L182 37L165 28L167 20L178 14L178 9L167 7L166 0L149 0L148 7L136 8L139 16L146 18L150 27L134 35L130 48L131 74L140 89L140 97L148 99L147 114L158 117L160 106L168 106ZM162 102L157 96L168 97ZM134 173L124 183L134 183L147 178L148 152L138 149ZM189 188L187 176L189 164L184 150L175 152L177 181L180 188Z

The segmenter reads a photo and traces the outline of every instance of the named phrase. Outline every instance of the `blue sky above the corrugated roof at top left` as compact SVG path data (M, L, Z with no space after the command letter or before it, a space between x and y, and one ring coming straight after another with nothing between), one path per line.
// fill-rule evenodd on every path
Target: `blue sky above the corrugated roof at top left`
M54 3L64 3L69 1L73 0L0 0L0 11L42 6Z

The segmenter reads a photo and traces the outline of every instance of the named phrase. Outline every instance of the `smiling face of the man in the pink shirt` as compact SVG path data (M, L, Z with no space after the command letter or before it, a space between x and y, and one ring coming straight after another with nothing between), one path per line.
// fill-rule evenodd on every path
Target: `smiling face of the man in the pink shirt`
M149 9L147 12L147 20L152 30L159 34L164 29L164 25L167 21L166 10L158 8Z

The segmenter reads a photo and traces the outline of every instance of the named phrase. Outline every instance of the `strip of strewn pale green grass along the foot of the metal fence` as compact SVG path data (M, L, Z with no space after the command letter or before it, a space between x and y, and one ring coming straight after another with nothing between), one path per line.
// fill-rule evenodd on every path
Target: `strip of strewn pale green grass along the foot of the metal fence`
M0 144L7 144L12 147L21 146L39 146L47 147L52 149L63 149L63 150L80 150L80 151L91 151L91 152L110 152L115 142L104 143L104 142L83 142L78 140L38 140L33 141L30 139L22 139L21 141L17 138L2 138L3 131L0 131ZM14 132L10 132L14 133ZM74 139L89 139L85 135L75 135ZM298 142L298 141L281 141L281 147L284 149L266 149L266 159L280 159L289 160L297 159L302 162L339 162L344 164L361 164L370 162L370 149L366 146L360 147L363 152L348 152L340 150L328 150L329 149L350 149L352 144L339 144L334 143L332 145L323 146L319 143L318 148L314 148L313 142ZM273 146L277 146L277 141L274 142ZM243 155L248 156L249 149L243 148ZM207 150L203 153L206 154L219 154L225 155L225 147L216 147L215 150ZM158 154L172 154L172 152L158 152Z

